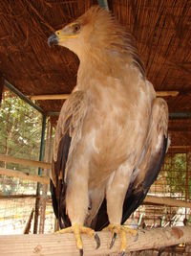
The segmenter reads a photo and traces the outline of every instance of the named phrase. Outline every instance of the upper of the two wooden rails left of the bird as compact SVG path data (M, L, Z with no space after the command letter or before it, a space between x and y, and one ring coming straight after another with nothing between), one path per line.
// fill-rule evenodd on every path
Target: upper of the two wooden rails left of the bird
M43 169L51 169L51 163L45 163L41 161L33 161L29 159L16 158L10 155L0 154L0 161L6 163L22 164L32 167L41 167Z

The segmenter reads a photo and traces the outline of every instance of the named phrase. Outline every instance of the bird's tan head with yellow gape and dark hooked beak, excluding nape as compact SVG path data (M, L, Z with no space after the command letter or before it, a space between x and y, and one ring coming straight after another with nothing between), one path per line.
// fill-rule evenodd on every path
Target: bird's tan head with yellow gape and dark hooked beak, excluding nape
M86 52L106 48L110 42L109 34L114 34L114 19L110 13L92 7L88 12L56 31L48 38L49 46L60 45L73 51L79 58Z

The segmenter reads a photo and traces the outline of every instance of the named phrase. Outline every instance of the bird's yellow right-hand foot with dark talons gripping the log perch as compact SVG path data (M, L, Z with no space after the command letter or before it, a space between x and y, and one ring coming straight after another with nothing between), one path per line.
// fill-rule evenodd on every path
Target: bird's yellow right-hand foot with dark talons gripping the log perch
M125 254L125 250L127 248L127 237L126 234L130 233L134 237L136 237L135 241L138 240L138 232L135 229L132 229L128 226L119 225L119 224L109 224L107 227L103 229L104 231L112 232L113 239L110 244L110 248L115 244L117 234L120 237L120 255L123 256Z

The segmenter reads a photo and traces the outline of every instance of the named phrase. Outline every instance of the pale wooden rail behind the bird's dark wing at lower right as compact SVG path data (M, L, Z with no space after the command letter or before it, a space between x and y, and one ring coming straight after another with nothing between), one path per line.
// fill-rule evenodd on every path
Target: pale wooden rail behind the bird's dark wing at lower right
M191 202L174 199L174 198L156 197L156 196L147 195L143 203L145 202L152 203L152 204L191 208Z

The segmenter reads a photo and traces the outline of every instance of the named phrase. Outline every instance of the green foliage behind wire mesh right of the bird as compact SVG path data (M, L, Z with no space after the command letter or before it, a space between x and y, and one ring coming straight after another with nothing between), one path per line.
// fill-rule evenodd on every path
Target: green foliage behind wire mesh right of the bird
M187 196L191 198L190 167L191 155L189 155L189 153L187 157L186 153L169 154L166 156L164 171L172 195L179 194L182 198L185 198L187 190ZM186 186L186 172L188 175L188 186Z

